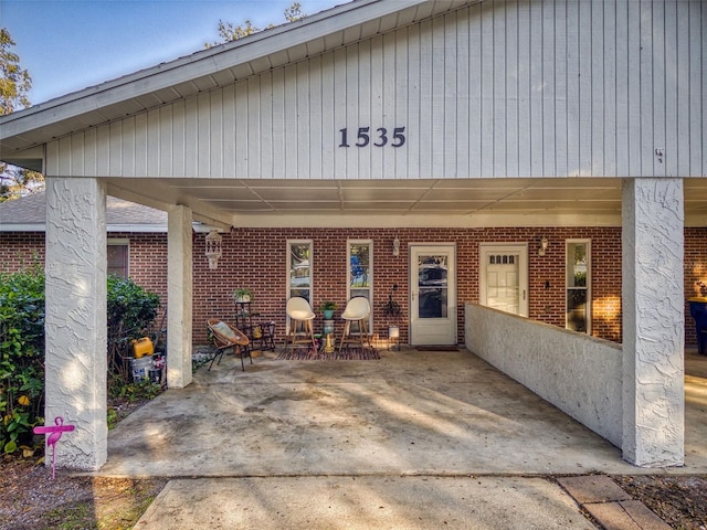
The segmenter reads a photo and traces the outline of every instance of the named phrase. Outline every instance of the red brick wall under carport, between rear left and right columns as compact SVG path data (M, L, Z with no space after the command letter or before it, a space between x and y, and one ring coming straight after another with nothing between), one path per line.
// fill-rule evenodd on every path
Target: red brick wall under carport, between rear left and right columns
M546 256L538 256L537 242L550 241ZM400 255L392 256L392 241L401 242ZM285 331L287 287L287 240L313 241L313 306L326 300L346 305L346 241L373 241L373 332L387 336L388 322L382 306L398 285L394 298L409 316L408 243L455 243L457 248L457 340L463 342L464 304L477 303L478 245L484 242L528 242L529 316L564 327L564 240L592 240L593 333L621 340L621 230L620 229L234 229L223 234L223 257L217 271L208 268L204 235L194 241L194 340L205 340L205 320L220 317L233 320L231 293L250 287L255 293L257 310L264 321L276 322L277 336ZM204 286L207 288L204 289ZM214 288L214 286L218 286ZM546 287L547 286L547 287ZM340 319L339 319L340 320ZM342 322L337 320L337 333ZM204 324L202 324L204 322ZM321 317L315 321L321 327ZM203 329L202 329L203 328ZM401 340L408 340L408 326L401 325Z

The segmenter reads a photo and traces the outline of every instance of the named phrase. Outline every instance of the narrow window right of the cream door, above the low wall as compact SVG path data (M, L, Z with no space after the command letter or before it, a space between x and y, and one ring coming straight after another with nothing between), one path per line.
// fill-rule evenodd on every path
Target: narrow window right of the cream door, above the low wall
M591 333L591 256L589 240L567 241L567 329Z

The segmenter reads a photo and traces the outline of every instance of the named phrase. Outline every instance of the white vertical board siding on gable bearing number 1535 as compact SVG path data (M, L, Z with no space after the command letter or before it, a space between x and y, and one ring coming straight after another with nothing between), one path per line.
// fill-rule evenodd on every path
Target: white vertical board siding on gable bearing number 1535
M55 140L48 174L707 176L706 25L703 1L486 0Z

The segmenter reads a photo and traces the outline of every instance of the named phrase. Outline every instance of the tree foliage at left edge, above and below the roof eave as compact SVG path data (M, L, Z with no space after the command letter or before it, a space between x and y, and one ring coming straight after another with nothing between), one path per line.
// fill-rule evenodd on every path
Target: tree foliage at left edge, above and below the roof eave
M0 29L0 115L31 106L28 93L32 77L20 66L20 56L12 51L14 41L10 32ZM36 171L0 162L0 202L19 199L25 193L44 188L44 177Z

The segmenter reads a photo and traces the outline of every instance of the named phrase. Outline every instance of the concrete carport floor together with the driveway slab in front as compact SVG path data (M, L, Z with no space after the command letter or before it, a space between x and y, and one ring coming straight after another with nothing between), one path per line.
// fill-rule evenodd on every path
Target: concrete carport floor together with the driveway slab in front
M136 528L584 529L589 505L547 475L656 473L468 351L381 357L226 357L124 420L101 475L175 478ZM658 473L707 473L693 379L686 466ZM614 528L661 528L642 524Z

